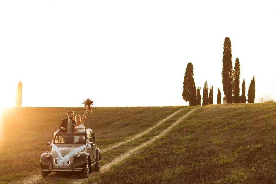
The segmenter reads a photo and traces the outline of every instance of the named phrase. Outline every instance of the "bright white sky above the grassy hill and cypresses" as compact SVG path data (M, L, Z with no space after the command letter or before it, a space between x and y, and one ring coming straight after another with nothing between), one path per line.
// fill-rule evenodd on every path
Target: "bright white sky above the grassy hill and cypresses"
M273 1L0 1L0 108L188 105L195 84L222 85L225 37L246 93L276 98ZM223 92L222 92L223 93ZM223 94L222 94L223 96Z

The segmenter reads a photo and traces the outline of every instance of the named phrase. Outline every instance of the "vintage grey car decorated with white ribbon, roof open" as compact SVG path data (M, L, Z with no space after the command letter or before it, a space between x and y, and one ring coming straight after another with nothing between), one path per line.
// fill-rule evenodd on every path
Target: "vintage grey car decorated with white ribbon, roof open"
M101 153L91 129L85 129L83 133L62 133L58 130L54 133L52 143L47 144L52 150L40 157L43 177L51 172L79 171L87 178L92 166L96 171L100 169Z

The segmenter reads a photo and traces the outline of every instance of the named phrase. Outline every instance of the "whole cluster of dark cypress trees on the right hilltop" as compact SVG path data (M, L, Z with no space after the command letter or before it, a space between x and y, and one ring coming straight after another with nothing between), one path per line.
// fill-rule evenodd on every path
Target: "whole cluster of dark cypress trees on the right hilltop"
M241 85L241 96L240 96L240 63L239 58L235 60L235 66L233 70L232 64L232 53L231 53L231 41L229 37L226 37L223 44L223 68L222 68L222 84L223 93L227 100L227 104L234 103L254 103L255 100L255 76L251 80L248 89L248 99L246 99L246 89L245 80ZM196 88L195 81L193 78L193 64L189 62L186 67L184 82L183 82L183 92L182 97L185 101L189 101L190 106L206 106L209 104L214 104L213 99L213 86L208 88L207 81L204 83L203 87L203 97L200 94L200 87ZM209 90L209 95L208 95ZM232 97L234 95L234 97ZM225 99L224 98L224 99ZM233 99L234 98L234 99ZM218 88L217 93L217 104L221 104L221 89Z

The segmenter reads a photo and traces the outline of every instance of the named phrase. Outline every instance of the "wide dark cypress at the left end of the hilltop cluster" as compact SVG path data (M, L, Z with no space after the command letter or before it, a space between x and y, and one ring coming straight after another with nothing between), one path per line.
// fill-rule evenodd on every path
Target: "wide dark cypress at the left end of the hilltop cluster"
M183 92L182 92L182 97L185 101L189 101L192 81L194 81L193 64L188 63L185 71L184 82L183 82Z

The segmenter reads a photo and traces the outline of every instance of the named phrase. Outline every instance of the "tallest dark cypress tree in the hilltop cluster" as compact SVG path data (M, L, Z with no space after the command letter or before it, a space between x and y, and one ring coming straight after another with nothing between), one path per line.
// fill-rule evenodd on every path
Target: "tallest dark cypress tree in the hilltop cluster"
M232 77L232 49L231 49L231 41L229 37L226 37L224 39L223 44L223 59L222 59L222 85L223 85L223 92L224 95L227 93L227 78L230 76L231 84L233 83L233 77Z

